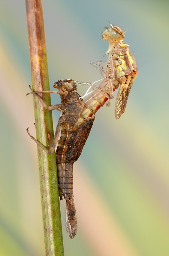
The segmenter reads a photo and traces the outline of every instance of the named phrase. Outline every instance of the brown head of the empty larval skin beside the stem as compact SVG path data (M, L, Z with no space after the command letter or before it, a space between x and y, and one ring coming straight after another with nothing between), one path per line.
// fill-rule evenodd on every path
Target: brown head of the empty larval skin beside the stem
M54 83L53 87L57 88L61 92L71 92L76 90L76 85L72 79L62 79Z

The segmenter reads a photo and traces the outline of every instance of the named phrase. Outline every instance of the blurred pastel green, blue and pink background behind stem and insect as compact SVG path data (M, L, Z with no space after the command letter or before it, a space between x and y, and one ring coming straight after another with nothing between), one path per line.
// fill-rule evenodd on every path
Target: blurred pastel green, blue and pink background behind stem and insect
M125 113L99 109L74 164L78 231L65 231L65 255L169 255L168 1L43 1L50 86L58 79L101 79L105 19L125 31L139 75ZM0 8L0 255L41 256L44 238L24 1ZM84 94L86 86L79 86ZM117 91L115 92L116 97ZM52 103L60 103L52 95ZM59 112L53 112L56 127Z

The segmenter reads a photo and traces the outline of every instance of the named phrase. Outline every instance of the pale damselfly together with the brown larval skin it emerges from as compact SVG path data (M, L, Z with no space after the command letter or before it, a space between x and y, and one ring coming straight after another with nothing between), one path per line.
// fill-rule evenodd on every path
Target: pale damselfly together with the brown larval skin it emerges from
M105 67L101 63L95 63L104 74L103 82L95 88L94 83L81 83L72 79L63 79L54 83L54 87L59 91L32 91L39 97L43 106L48 110L59 109L61 116L56 127L55 137L49 150L37 141L27 128L29 136L45 152L52 154L55 150L61 129L61 137L56 150L57 172L59 183L59 196L66 200L66 230L71 238L77 232L76 210L73 195L73 163L79 158L83 146L89 136L98 109L103 106L108 99L113 97L113 92L120 85L120 90L116 99L115 117L118 119L125 111L132 83L137 76L137 66L134 57L128 50L128 45L123 41L124 34L118 27L111 25L110 29L103 32L103 39L110 42L106 55L109 55ZM102 80L102 79L101 79ZM94 90L90 96L83 101L83 97L76 91L76 84L88 84ZM39 93L58 93L62 104L46 106Z

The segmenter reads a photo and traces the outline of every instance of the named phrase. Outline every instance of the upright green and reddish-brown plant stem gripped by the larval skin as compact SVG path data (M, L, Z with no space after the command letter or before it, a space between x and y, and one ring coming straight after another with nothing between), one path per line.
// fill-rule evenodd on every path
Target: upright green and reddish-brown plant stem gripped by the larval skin
M41 0L26 0L26 16L32 87L34 91L50 90ZM50 106L50 94L41 96L47 106ZM37 140L50 148L53 141L52 113L44 109L36 95L33 95L33 101ZM38 163L46 256L63 256L55 153L49 155L38 146Z

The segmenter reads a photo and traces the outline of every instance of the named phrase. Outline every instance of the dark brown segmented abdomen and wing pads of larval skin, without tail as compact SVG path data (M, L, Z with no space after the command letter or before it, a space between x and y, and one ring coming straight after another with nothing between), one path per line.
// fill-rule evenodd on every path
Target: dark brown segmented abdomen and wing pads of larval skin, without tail
M89 136L94 122L94 117L90 120L83 120L80 125L69 127L63 125L61 137L56 150L57 172L59 190L65 199L71 199L73 195L73 163L79 158L83 146Z

